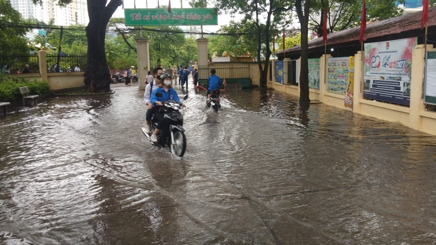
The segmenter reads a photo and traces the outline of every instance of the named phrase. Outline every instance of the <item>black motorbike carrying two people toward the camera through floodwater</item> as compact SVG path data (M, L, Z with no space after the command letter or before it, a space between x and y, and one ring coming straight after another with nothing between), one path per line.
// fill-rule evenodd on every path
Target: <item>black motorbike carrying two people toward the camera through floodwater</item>
M161 97L162 94L157 92L156 96ZM183 100L188 99L188 95L185 95ZM167 120L167 128L162 128L159 130L157 135L157 143L152 142L150 135L156 129L158 124L156 118L153 116L151 119L150 135L145 132L145 128L142 128L142 132L150 140L152 145L165 145L169 146L169 150L172 155L177 157L183 157L186 151L186 136L185 129L183 128L183 110L182 104L177 101L165 101L162 102L162 106L159 107L161 112L164 112L164 119Z

